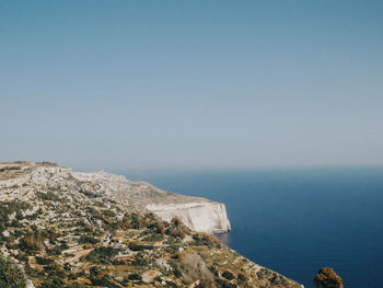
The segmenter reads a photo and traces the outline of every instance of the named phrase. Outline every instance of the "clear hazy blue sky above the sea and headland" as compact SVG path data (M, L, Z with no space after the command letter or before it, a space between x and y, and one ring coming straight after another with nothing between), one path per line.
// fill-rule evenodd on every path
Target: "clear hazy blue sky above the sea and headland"
M0 1L0 161L383 164L383 1Z

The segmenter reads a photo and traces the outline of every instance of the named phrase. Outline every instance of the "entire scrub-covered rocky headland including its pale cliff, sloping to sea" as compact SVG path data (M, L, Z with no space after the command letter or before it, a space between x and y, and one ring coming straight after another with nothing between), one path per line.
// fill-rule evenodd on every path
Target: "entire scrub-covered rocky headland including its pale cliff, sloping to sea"
M35 287L300 287L196 231L229 229L224 206L204 198L48 162L0 164L0 250Z

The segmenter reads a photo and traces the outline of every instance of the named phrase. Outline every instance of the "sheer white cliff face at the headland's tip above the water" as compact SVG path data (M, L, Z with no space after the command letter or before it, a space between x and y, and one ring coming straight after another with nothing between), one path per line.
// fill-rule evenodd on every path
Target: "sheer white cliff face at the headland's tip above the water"
M185 204L147 205L147 209L165 221L179 218L189 229L221 233L230 231L230 221L223 204L214 201L197 201Z

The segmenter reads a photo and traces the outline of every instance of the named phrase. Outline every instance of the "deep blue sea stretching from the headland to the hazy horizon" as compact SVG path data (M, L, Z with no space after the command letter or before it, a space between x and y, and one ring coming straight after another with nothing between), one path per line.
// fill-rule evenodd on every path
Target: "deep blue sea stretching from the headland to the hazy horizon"
M124 173L227 205L219 235L306 288L330 266L346 288L382 287L383 168Z

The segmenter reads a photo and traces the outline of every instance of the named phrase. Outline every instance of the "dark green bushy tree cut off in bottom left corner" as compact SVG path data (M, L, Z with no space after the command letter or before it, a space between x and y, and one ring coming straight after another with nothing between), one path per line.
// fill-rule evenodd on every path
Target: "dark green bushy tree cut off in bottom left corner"
M25 288L25 273L13 261L0 255L0 287Z

